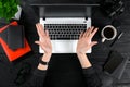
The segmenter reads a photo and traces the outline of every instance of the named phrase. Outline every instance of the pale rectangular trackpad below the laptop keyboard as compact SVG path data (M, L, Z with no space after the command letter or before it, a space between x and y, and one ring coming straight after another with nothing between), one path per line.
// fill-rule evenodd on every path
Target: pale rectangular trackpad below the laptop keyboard
M70 40L56 40L53 46L54 52L57 53L72 53L73 42Z

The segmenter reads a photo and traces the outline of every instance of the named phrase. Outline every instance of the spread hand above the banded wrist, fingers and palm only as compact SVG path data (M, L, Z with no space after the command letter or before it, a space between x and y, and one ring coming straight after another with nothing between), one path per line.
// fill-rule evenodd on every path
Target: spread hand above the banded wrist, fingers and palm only
M40 41L35 41L35 44L39 45L42 48L44 54L52 54L52 45L49 37L49 32L44 30L43 26L39 23L36 24L36 27L40 37Z

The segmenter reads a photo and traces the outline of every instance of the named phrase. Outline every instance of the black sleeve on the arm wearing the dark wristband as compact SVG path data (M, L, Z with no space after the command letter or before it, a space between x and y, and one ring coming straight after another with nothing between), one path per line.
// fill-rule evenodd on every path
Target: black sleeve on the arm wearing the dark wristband
M35 70L30 80L24 87L43 87L46 71Z

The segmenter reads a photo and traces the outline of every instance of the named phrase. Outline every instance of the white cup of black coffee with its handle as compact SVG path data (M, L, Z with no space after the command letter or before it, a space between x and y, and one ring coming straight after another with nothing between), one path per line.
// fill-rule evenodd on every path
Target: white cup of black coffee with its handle
M102 42L104 42L105 40L113 40L117 36L117 29L112 25L107 25L102 29L101 36Z

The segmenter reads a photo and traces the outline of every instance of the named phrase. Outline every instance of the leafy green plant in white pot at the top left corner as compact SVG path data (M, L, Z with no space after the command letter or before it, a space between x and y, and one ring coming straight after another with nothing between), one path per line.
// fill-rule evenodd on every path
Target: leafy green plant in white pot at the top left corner
M17 0L0 0L0 18L10 21L11 18L20 20L22 8Z

